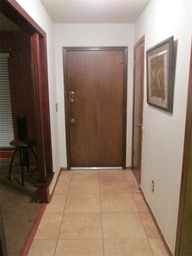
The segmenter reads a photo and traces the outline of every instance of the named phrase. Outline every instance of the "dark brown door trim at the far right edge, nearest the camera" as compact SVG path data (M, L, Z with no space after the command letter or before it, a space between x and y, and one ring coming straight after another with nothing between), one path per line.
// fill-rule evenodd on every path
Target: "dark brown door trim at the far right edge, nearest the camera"
M188 162L190 152L190 137L191 137L191 126L192 126L192 40L191 40L191 57L190 57L190 68L189 68L189 85L188 85L188 96L187 96L187 111L186 111L186 123L185 123L185 138L184 138L184 149L183 149L183 165L181 173L181 188L179 198L179 212L177 221L177 233L175 242L175 254L180 255L181 246L181 233L183 224L184 214L184 203L185 203L185 191L187 183L188 173Z

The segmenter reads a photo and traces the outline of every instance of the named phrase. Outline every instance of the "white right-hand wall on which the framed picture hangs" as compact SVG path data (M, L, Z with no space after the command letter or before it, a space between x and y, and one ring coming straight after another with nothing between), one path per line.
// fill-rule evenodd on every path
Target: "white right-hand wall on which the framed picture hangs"
M172 35L178 41L173 114L147 104L145 67L141 174L142 190L172 253L178 217L191 32L192 2L186 0L151 1L135 23L135 42L146 34L146 50Z

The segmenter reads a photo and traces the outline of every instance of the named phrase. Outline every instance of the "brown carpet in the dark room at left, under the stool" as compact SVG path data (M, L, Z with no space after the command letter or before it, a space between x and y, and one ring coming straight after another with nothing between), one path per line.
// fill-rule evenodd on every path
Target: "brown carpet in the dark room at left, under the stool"
M16 164L17 162L14 162ZM1 162L1 213L5 231L7 255L20 255L41 208L37 203L37 172L24 174L24 187L21 174L11 174L8 180L10 162ZM14 171L19 172L20 167Z

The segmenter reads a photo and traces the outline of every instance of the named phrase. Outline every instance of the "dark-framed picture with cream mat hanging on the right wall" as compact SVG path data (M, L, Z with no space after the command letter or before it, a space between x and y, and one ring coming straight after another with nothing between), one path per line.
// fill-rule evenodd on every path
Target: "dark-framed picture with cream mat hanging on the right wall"
M173 36L147 50L147 103L173 112Z

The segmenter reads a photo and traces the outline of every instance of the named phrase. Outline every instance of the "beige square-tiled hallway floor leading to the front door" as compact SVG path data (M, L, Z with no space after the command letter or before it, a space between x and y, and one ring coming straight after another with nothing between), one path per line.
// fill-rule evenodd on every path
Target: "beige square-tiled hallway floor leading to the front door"
M130 170L62 171L28 255L168 255Z

